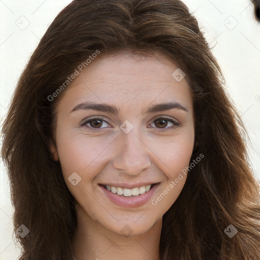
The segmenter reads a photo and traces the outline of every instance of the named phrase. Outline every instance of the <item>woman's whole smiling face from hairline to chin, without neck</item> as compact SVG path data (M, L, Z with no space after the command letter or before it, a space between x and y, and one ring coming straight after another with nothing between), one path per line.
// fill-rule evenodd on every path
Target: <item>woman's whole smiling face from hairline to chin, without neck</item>
M159 54L103 55L62 93L51 151L79 217L136 236L178 198L194 122L185 77L172 76L177 69Z

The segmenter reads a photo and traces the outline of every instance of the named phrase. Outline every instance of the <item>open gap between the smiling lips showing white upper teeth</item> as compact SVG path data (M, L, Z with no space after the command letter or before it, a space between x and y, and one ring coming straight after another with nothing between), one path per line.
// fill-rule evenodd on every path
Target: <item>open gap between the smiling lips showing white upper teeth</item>
M122 197L137 197L141 194L148 192L157 184L159 183L153 183L146 186L135 187L135 188L115 187L115 186L104 185L104 184L100 184L100 185L105 187L108 191Z

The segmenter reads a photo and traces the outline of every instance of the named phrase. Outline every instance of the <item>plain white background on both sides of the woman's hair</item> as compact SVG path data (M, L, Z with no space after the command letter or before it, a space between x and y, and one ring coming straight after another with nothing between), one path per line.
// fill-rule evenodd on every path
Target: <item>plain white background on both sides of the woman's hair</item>
M56 15L71 2L0 0L2 120L28 58ZM210 46L215 46L213 54L225 77L226 89L250 135L251 163L257 174L255 177L260 179L260 23L253 18L253 6L249 0L183 2L194 12ZM26 25L28 26L24 28ZM12 241L12 205L2 160L0 198L0 260L13 260L18 258L20 250L15 248Z

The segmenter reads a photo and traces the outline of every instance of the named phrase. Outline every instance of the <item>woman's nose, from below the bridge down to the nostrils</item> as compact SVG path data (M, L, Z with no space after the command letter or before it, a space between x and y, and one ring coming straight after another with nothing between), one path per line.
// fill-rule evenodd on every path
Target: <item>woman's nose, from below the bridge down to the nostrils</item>
M151 166L149 158L151 151L142 139L141 134L135 131L135 127L128 134L120 133L116 140L113 160L113 166L116 169L123 170L129 175L138 175Z

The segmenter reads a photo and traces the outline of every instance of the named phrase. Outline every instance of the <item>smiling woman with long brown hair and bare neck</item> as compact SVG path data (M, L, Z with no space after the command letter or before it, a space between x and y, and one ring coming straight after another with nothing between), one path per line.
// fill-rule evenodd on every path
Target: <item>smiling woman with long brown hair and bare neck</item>
M259 183L223 85L181 1L62 10L3 125L20 259L260 259Z

